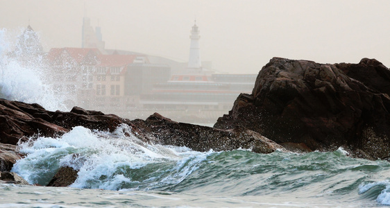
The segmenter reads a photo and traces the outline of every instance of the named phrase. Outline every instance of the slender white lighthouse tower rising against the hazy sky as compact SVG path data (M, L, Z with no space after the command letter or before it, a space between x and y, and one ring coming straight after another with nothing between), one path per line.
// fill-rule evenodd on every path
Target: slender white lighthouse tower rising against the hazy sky
M188 59L188 68L189 69L201 69L201 49L199 48L199 30L198 26L196 26L196 21L194 26L192 26L191 35L189 36L191 39L191 45L189 47L189 59Z

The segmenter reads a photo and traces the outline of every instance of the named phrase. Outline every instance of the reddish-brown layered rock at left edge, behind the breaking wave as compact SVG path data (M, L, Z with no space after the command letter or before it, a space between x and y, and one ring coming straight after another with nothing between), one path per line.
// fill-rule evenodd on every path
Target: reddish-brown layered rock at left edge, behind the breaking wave
M71 112L51 112L38 104L0 99L0 171L10 171L20 158L15 148L3 150L1 144L15 147L29 137L57 137L78 125L92 130L113 131L121 123L132 125L128 119L80 107L74 107Z

